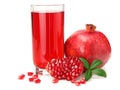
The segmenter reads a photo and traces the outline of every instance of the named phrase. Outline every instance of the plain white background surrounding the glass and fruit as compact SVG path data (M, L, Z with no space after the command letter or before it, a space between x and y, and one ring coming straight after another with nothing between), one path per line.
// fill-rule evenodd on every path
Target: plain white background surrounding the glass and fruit
M97 26L112 47L104 66L107 78L93 76L80 87L67 81L52 84L48 76L41 84L17 79L21 73L34 71L31 41L31 4L65 4L65 40L86 23ZM0 90L108 90L120 89L120 3L119 0L1 0L0 1Z

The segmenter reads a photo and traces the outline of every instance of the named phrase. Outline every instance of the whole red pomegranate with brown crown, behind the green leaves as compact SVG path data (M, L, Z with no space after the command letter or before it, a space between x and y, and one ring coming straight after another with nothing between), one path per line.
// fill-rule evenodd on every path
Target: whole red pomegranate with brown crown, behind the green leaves
M105 65L111 56L111 46L107 37L96 26L86 24L86 30L73 33L65 42L65 55L83 57L91 64L100 59Z

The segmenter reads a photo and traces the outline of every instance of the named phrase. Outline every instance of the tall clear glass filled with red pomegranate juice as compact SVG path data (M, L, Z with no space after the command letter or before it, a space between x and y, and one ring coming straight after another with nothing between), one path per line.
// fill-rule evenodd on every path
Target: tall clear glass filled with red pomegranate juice
M64 5L31 5L33 63L44 74L47 63L64 57Z

